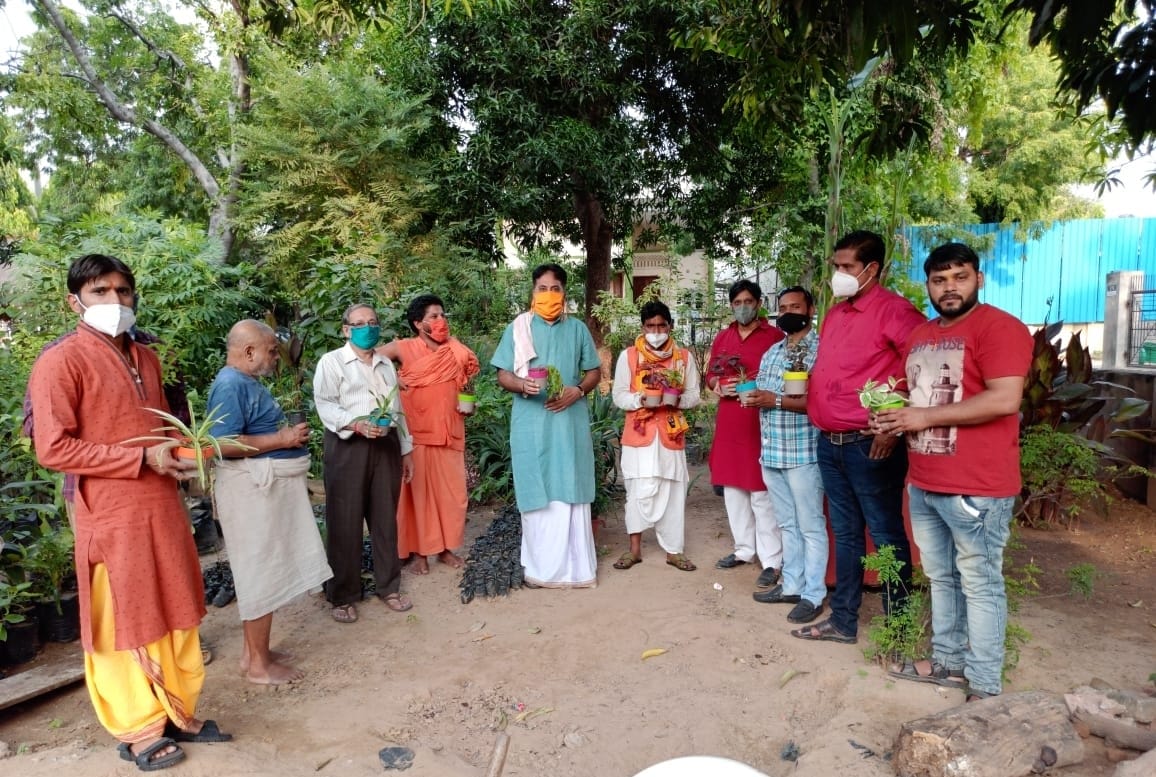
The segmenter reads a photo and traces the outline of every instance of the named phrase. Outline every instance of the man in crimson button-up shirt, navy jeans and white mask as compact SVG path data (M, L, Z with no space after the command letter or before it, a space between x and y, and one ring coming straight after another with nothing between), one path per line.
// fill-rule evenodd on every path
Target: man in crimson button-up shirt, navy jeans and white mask
M795 629L800 639L854 643L862 602L864 530L876 547L890 545L903 563L903 587L887 591L890 612L911 582L911 543L903 528L903 481L907 452L894 435L874 435L859 388L904 376L907 335L926 320L913 304L880 284L885 249L875 232L851 232L835 244L831 290L846 297L828 311L812 370L807 415L820 430L818 469L835 535L831 616Z

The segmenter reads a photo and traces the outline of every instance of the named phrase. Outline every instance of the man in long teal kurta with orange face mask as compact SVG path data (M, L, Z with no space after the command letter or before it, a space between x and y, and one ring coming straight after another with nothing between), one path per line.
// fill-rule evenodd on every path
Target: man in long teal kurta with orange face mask
M490 360L498 384L514 394L510 451L524 578L543 587L593 587L594 449L585 397L598 386L601 361L586 325L564 314L566 272L541 265L533 280L531 310L506 327ZM531 377L546 367L562 378L554 397L544 378Z

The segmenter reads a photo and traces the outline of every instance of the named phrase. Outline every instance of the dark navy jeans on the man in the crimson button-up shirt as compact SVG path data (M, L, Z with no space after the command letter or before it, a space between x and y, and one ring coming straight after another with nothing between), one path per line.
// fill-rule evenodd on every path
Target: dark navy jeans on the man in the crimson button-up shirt
M827 506L835 535L835 592L828 600L831 624L847 636L859 634L859 606L864 599L862 557L870 532L876 548L890 545L903 562L902 587L883 592L883 608L902 606L911 587L911 542L903 528L903 481L907 476L907 449L901 442L885 459L870 459L870 437L846 445L818 438L818 471L823 475Z

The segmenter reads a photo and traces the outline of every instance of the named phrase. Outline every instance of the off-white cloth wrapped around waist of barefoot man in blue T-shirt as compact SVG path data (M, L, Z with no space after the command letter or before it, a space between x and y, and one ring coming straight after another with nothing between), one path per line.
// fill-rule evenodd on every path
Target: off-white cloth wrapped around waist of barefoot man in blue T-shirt
M267 615L333 577L309 503L307 474L307 456L216 465L214 509L243 621Z

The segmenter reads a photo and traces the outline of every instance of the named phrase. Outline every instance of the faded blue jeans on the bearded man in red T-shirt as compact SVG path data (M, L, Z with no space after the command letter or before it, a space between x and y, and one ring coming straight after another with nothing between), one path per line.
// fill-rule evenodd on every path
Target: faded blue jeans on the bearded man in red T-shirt
M932 659L962 668L988 694L1002 688L1008 599L1003 547L1015 497L934 494L907 486L911 532L932 586Z

